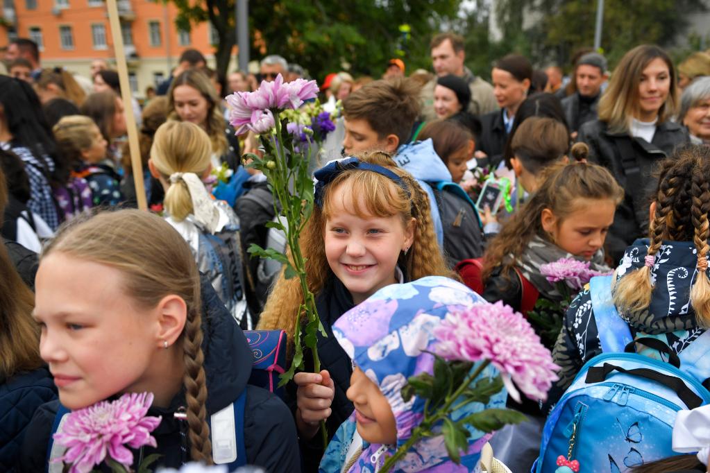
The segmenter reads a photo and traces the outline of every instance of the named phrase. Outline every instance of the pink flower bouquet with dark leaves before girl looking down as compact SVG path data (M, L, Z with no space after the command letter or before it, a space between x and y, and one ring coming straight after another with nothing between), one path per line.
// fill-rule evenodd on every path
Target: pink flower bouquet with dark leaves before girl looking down
M559 301L550 301L550 299L542 297L537 299L535 309L528 313L528 320L537 327L542 342L547 346L552 346L562 328L564 314L567 312L569 304L572 304L572 300L579 294L579 291L584 289L592 277L605 276L606 273L590 269L587 261L560 258L540 266L540 274L545 276L547 281L555 284L562 299Z

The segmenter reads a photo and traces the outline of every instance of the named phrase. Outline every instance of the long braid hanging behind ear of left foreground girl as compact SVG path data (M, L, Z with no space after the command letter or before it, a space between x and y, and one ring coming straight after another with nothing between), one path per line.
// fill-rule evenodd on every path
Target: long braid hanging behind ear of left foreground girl
M187 425L190 428L190 458L205 464L212 464L212 443L207 425L207 384L204 374L204 353L202 352L202 316L200 301L188 314L182 347L185 350L185 400L187 401Z

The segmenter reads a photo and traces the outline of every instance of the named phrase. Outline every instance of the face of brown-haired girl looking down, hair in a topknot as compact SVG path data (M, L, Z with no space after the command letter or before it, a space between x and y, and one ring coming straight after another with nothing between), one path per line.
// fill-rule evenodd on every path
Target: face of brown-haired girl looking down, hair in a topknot
M576 199L576 210L564 220L549 208L542 211L542 228L552 235L555 245L572 255L591 260L604 244L614 221L616 205L611 199Z

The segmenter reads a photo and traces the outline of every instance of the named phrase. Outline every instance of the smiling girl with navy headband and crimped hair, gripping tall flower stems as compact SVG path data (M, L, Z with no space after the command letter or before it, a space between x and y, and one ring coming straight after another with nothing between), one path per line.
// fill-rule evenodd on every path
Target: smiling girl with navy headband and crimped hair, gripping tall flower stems
M322 457L318 424L329 435L353 412L346 398L352 365L332 325L389 284L450 274L439 250L426 192L386 152L357 154L315 172L316 206L301 235L310 290L327 338L318 334L320 373L300 372L287 391L300 432L304 471ZM277 280L261 330L283 329L289 343L303 304L296 278ZM310 357L305 357L309 360ZM306 366L312 371L312 367Z

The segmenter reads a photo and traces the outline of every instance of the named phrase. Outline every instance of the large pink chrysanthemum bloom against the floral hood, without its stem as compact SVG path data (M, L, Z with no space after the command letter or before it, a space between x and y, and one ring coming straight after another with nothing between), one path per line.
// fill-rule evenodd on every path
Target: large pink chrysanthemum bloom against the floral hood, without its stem
M550 350L540 343L530 323L501 301L448 313L435 336L434 351L446 360L490 360L515 401L520 402L520 394L510 379L525 396L543 401L558 379L559 367L552 362Z

